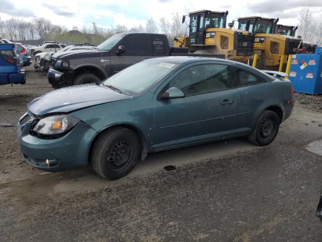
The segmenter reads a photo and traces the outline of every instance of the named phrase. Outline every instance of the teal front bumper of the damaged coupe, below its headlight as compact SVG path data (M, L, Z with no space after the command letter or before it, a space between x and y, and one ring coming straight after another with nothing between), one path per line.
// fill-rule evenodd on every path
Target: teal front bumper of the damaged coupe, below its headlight
M26 115L26 114L25 114ZM88 164L90 144L96 131L80 122L66 135L42 139L31 134L33 119L17 127L18 142L25 160L37 169L62 171Z

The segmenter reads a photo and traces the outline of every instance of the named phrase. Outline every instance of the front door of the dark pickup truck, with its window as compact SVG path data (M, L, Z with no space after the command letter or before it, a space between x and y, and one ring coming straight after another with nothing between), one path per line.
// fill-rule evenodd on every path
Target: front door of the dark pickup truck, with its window
M120 43L112 48L110 54L112 74L143 61L143 59L153 57L148 36L144 34L129 34L123 37ZM123 53L117 53L120 45L125 48Z

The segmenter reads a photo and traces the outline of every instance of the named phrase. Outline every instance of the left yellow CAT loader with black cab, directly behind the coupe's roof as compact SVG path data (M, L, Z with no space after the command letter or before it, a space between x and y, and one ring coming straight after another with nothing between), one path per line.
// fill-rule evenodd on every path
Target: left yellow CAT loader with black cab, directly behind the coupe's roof
M223 53L226 59L247 63L253 55L254 34L226 28L228 11L200 10L189 13L189 36L174 38L174 47L188 47L191 53ZM185 23L183 16L182 23Z

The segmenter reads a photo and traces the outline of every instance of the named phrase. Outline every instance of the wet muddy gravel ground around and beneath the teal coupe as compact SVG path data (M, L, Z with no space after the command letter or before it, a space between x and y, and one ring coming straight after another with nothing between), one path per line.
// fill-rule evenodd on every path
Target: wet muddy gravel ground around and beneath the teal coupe
M26 85L0 87L0 123L52 90L27 70ZM320 109L320 96L296 98ZM150 154L116 181L34 169L16 128L0 127L0 241L322 241L321 125L322 112L295 106L268 147L239 138Z

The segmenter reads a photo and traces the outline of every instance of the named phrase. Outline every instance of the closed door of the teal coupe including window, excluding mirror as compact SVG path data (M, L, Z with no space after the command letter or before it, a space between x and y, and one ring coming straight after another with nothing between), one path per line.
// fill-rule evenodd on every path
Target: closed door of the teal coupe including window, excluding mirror
M168 81L169 80L169 81ZM170 77L153 98L153 148L159 149L220 138L235 129L237 90L229 65L190 64ZM158 95L177 87L184 98L160 100Z

